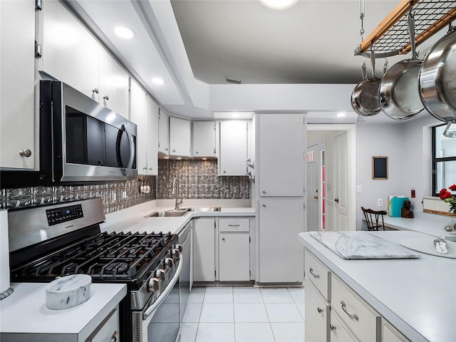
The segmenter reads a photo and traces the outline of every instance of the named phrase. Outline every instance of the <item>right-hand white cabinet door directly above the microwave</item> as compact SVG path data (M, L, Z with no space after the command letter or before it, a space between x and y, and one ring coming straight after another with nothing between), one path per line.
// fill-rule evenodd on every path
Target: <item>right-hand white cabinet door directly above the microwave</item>
M128 118L128 73L100 46L98 102Z

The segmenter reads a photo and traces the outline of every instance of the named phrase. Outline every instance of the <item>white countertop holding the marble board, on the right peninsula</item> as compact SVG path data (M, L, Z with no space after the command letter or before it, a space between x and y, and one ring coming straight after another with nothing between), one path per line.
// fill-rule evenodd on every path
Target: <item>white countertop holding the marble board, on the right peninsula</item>
M419 232L371 233L394 243L426 237ZM338 257L309 233L299 237L309 252L410 341L456 341L455 259L421 254L419 259L349 260Z

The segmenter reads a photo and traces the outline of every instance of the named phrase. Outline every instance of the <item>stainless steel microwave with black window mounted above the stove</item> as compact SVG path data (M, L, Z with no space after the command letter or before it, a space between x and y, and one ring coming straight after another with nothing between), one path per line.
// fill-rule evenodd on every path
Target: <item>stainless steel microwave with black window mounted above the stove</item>
M136 168L137 126L61 81L41 81L40 134L52 182L131 180ZM49 141L49 140L48 140Z

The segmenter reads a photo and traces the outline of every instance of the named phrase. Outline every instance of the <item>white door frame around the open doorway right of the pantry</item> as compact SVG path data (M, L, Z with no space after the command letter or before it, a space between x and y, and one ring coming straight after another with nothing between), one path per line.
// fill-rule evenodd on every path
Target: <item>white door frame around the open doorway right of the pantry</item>
M348 227L356 230L356 124L307 124L307 130L346 131L348 148Z

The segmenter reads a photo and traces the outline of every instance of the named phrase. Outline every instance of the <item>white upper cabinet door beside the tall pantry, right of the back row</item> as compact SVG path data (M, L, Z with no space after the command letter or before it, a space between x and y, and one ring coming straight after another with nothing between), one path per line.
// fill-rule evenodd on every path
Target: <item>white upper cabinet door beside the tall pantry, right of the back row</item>
M219 176L247 174L247 121L219 123Z

